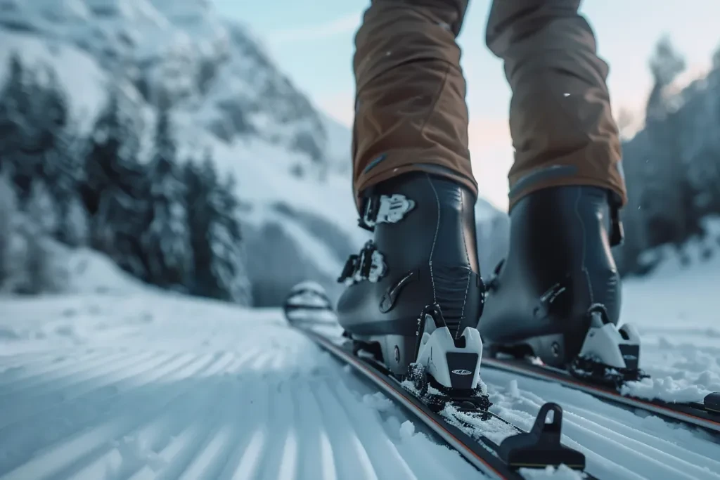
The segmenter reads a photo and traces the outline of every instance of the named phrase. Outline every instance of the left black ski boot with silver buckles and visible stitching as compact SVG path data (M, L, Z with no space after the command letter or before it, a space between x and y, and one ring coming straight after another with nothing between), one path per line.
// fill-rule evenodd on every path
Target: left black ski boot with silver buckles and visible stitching
M482 356L475 328L484 288L475 243L475 197L454 181L408 173L364 192L359 225L374 232L338 281L348 288L338 322L396 376L413 364L441 386L477 386ZM467 328L466 328L467 327ZM467 330L467 331L466 331Z

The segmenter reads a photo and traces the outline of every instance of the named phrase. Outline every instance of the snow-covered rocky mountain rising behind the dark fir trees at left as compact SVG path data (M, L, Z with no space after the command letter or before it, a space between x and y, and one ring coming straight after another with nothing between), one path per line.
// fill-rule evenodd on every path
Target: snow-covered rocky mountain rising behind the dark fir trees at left
M338 293L346 255L366 240L351 196L351 134L246 27L207 0L0 0L0 12L0 76L13 53L50 65L79 128L89 128L112 85L148 123L158 98L170 97L182 146L212 148L220 170L238 179L257 304L277 304L305 278ZM490 225L503 222L490 204L478 209Z

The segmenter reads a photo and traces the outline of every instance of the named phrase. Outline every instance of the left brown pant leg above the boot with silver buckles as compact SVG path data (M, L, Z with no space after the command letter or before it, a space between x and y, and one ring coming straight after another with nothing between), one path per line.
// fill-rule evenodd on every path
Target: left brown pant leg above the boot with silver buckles
M410 171L477 194L467 148L465 81L455 37L467 0L373 0L355 37L353 186Z

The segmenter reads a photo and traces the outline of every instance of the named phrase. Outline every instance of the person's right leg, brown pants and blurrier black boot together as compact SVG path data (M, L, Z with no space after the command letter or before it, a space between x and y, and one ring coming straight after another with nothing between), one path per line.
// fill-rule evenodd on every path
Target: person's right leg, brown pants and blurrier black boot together
M516 154L508 256L488 281L478 330L488 351L593 371L582 358L626 358L612 345L589 351L597 344L585 344L591 328L619 320L611 246L621 241L626 191L608 65L579 6L495 0L490 10L487 45L503 59L512 88ZM613 368L636 370L636 362Z

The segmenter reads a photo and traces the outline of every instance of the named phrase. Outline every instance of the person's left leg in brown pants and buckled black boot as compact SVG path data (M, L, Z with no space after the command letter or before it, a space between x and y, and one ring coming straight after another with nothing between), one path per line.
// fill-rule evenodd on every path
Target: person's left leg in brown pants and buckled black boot
M346 263L341 281L349 285L338 300L338 322L400 376L424 358L418 339L428 317L449 335L469 327L477 342L467 348L476 350L463 358L480 353L477 184L455 43L466 6L374 0L356 35L354 191L360 225L373 231L373 240Z

